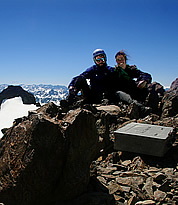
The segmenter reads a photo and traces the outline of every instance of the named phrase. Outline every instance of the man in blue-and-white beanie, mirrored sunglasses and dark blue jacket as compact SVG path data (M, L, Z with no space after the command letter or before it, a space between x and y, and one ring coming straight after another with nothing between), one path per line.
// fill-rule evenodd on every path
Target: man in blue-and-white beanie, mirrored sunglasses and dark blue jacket
M69 95L61 101L61 106L72 105L78 100L78 93L81 91L83 103L100 103L103 97L109 95L108 84L111 79L111 67L107 65L106 53L103 49L96 49L93 52L95 65L86 69L79 76L70 82Z

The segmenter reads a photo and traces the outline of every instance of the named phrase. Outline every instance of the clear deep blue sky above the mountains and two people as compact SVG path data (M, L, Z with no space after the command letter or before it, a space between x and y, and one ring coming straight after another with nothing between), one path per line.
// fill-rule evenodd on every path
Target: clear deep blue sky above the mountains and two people
M0 84L68 85L105 50L170 86L178 77L177 0L0 0Z

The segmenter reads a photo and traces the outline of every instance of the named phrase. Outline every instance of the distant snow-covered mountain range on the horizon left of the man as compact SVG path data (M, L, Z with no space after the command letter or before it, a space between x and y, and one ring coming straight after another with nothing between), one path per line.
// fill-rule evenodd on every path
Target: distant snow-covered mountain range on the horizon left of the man
M60 104L61 99L65 99L68 95L68 88L62 85L25 85L20 84L24 90L32 93L36 98L36 102L39 102L41 105L53 102L56 105ZM0 92L8 87L8 84L0 84Z

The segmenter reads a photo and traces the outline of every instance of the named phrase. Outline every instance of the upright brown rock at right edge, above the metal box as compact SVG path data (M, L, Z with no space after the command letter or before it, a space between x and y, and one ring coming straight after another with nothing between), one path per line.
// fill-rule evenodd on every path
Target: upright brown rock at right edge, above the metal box
M178 78L172 82L162 99L163 108L161 118L172 117L178 114Z

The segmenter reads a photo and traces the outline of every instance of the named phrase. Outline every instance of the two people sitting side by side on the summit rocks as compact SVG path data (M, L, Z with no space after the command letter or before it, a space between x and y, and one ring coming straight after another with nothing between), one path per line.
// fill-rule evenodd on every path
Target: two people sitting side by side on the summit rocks
M151 75L136 66L129 66L123 51L119 51L115 59L117 65L108 66L105 51L96 49L93 52L95 64L72 79L68 86L69 95L61 101L61 106L72 105L80 98L78 93L81 91L84 104L101 103L103 99L108 99L110 103L136 103L145 109L143 103L148 95L147 84L151 83Z

